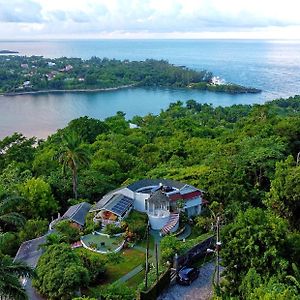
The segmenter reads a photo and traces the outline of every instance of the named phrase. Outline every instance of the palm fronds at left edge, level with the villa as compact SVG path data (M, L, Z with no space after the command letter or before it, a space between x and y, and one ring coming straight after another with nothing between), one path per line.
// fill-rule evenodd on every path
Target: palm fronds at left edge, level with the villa
M24 217L14 211L21 200L20 197L0 195L0 232L4 231L6 226L19 227L24 224Z

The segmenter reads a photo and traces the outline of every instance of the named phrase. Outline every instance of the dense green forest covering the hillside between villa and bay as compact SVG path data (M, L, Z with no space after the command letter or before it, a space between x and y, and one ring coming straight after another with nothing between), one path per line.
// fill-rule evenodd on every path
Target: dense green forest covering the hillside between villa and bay
M70 151L81 158L76 191ZM170 178L204 190L207 209L222 219L225 270L216 298L299 299L299 152L299 96L231 107L178 101L130 121L122 112L104 121L81 117L47 140L15 133L0 141L2 261L71 204L94 203L137 179ZM64 247L76 265L79 258Z

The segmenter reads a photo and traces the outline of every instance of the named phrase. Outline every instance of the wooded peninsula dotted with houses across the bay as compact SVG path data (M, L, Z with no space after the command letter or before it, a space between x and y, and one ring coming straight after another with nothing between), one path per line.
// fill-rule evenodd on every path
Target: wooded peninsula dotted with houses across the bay
M134 86L192 88L230 94L261 92L226 83L209 71L195 71L165 60L0 56L0 93L4 95L104 91Z

